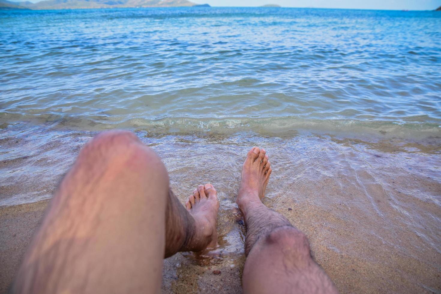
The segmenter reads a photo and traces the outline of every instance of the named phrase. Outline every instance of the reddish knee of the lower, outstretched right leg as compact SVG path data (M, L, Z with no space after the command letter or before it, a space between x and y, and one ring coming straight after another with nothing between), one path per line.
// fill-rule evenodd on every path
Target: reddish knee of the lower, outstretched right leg
M311 255L308 238L294 227L279 227L273 230L266 236L265 242L295 258Z

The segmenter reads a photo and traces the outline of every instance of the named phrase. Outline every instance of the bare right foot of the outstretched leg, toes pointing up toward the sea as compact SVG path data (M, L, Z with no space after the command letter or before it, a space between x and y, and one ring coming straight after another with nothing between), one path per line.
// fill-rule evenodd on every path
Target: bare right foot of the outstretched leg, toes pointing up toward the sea
M265 149L252 148L242 167L242 180L240 181L239 194L236 203L243 212L250 203L261 202L265 196L271 167Z

